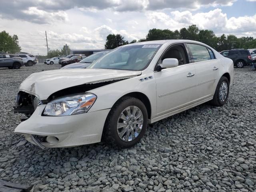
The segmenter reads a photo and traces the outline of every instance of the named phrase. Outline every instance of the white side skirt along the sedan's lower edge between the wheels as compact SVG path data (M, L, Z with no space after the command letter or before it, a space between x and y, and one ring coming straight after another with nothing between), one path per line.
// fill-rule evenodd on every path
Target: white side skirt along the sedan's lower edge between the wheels
M177 110L175 110L175 111L172 111L172 112L163 114L163 115L158 116L158 117L155 117L155 118L153 118L153 119L149 119L149 120L148 120L148 123L151 124L151 123L157 122L157 121L159 121L159 120L162 120L162 119L164 119L164 118L166 118L166 117L170 117L170 116L175 115L175 114L177 114L177 113L180 113L180 112L182 112L182 111L188 110L188 109L190 109L190 108L192 108L192 107L195 107L195 106L198 106L198 105L200 105L200 104L203 104L203 103L205 103L205 102L207 102L207 101L210 101L210 100L212 100L212 98L213 98L213 97L209 97L209 98L207 98L207 99L204 99L204 100L202 100L202 101L196 102L196 103L191 104L191 105L188 105L188 106L186 106L186 107L183 107L183 108L177 109Z

